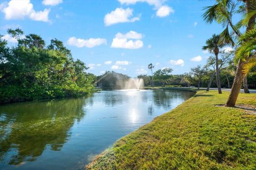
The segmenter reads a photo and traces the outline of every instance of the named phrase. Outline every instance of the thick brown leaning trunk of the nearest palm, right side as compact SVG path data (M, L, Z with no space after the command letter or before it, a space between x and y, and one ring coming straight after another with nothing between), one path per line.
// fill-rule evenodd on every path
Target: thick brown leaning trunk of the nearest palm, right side
M250 11L253 10L254 5L251 3L255 3L255 0L253 2L251 1L245 1L245 7L246 7L246 12L249 13ZM246 32L250 31L253 28L253 25L255 23L255 18L256 15L252 16L247 24L247 28L246 28ZM247 57L245 57L245 59L247 60ZM234 107L236 104L236 99L239 95L241 86L242 86L242 80L245 77L245 73L243 73L243 64L244 62L242 60L239 60L238 65L237 65L237 69L236 69L236 75L235 75L235 80L234 83L232 85L231 88L231 92L230 95L228 97L228 101L226 103L227 107Z

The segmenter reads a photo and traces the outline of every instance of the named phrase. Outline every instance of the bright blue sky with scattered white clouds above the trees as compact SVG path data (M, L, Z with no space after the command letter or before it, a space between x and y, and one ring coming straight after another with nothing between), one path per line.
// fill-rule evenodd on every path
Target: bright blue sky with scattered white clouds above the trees
M7 28L36 33L48 44L57 38L100 75L113 70L135 77L171 67L173 74L205 64L202 46L221 25L202 20L203 7L214 1L161 0L12 0L0 1L0 33ZM111 61L111 62L110 62Z

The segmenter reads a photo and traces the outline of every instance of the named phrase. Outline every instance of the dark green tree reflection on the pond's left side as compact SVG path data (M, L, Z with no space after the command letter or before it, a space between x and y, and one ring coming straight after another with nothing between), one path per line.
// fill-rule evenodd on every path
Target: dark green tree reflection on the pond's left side
M85 115L92 97L10 104L0 107L0 161L18 165L34 161L46 148L58 151L70 128ZM12 154L8 152L12 151ZM11 155L10 157L6 154Z

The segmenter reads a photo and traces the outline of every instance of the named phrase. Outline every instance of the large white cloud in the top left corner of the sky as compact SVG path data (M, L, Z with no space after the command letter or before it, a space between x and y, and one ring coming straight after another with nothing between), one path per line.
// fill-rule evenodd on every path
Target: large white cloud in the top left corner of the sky
M11 0L8 6L4 7L2 12L5 13L6 20L24 19L26 17L34 21L49 21L50 9L44 11L35 11L30 0L15 1Z

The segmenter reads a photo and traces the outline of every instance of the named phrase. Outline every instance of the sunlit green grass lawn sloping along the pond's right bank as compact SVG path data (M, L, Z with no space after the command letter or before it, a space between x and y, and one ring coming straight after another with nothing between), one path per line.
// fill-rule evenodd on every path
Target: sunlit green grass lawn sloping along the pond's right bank
M198 91L118 140L87 169L256 169L256 115L219 107L229 92ZM256 106L256 94L237 104Z

